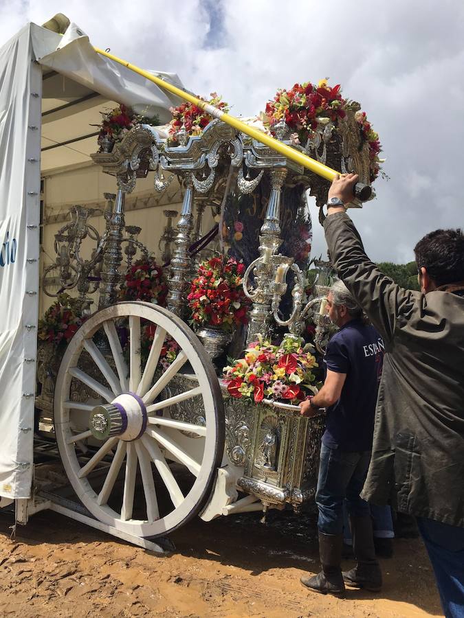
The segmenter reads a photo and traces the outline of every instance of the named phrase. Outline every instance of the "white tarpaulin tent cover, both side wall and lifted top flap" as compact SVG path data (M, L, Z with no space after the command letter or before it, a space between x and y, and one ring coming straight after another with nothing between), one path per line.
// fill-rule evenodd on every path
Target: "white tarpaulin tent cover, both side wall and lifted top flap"
M54 80L55 71L60 80ZM157 74L181 86L177 76ZM72 94L73 84L84 96ZM45 92L48 100L64 104L44 112ZM131 105L144 115L156 113L162 122L179 102L98 56L74 24L65 36L29 24L0 49L0 496L8 498L30 496L32 485L42 121L48 131L42 136L47 169L78 162L71 157L85 158L91 150L69 148L71 141L85 144L85 135L63 138L65 130L79 128L78 115L67 106L78 101L76 111L88 133L85 106L91 96ZM91 144L95 150L96 141Z

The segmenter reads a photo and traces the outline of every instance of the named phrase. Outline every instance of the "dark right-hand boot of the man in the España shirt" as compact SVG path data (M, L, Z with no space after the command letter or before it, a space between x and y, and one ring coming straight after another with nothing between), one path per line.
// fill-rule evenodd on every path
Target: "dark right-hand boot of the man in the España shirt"
M344 582L357 588L379 592L382 588L382 571L375 558L371 516L351 517L351 534L357 565L351 571L344 571Z

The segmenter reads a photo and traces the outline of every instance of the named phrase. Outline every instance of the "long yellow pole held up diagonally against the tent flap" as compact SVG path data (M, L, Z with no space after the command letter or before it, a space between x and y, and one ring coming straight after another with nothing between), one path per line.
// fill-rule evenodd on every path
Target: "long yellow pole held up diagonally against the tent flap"
M120 65L123 65L127 69L131 69L131 71L134 71L145 79L157 84L157 86L159 86L160 88L168 90L169 92L177 95L179 98L193 103L194 105L197 105L198 107L206 111L206 113L212 115L215 118L221 119L223 122L230 124L230 126L233 126L234 128L240 130L242 133L250 135L250 137L252 137L253 139L261 142L261 144L269 146L269 148L276 150L276 152L278 152L280 155L287 157L287 159L291 159L291 161L295 161L295 163L299 163L304 168L307 168L308 170L311 170L311 172L318 174L318 176L322 176L322 178L333 181L335 175L339 173L332 168L327 167L327 165L316 161L316 159L311 159L311 157L304 155L299 150L296 150L296 148L291 148L291 146L283 144L281 141L278 141L278 139L274 139L274 137L267 135L267 133L263 133L263 131L260 131L252 126L248 126L247 124L245 124L245 122L241 122L241 120L239 120L238 118L235 118L234 116L231 116L221 111L220 109L210 105L206 101L202 101L194 95L191 95L190 93L173 86L173 84L169 84L161 78L153 76L151 73L148 73L148 71L144 71L144 69L140 69L135 65L131 65L130 62L126 62L126 60L121 60L121 58L113 56L113 54L109 54L109 52L104 52L103 49L98 49L98 47L94 47L93 49L95 49L98 54L106 56L107 58L114 60L114 62L118 62Z

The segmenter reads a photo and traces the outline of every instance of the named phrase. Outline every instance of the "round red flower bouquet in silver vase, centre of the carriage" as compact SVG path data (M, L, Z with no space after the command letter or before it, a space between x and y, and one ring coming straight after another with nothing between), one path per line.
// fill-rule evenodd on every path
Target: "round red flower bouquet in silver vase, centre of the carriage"
M234 258L211 258L198 268L188 295L192 323L232 330L246 324L250 305L242 288L245 264Z

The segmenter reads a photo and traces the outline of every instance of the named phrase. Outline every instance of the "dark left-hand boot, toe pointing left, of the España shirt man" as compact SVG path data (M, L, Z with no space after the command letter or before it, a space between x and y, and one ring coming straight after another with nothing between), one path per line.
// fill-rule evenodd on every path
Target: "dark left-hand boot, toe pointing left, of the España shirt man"
M322 571L318 575L301 577L300 582L313 592L344 597L345 584L342 577L343 534L324 534L319 531L319 556Z

